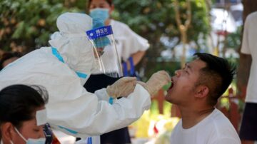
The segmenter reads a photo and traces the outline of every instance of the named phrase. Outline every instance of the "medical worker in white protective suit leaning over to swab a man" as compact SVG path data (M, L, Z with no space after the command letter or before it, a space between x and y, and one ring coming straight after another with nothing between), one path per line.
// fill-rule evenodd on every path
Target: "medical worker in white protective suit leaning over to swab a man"
M124 77L95 93L87 92L83 85L95 57L85 31L91 29L92 19L66 13L56 23L59 32L49 41L51 47L32 51L0 71L0 89L15 83L46 87L47 118L52 127L80 138L123 128L148 110L150 95L171 81L165 71L159 71L142 86L136 84L136 78ZM111 105L109 96L126 98Z

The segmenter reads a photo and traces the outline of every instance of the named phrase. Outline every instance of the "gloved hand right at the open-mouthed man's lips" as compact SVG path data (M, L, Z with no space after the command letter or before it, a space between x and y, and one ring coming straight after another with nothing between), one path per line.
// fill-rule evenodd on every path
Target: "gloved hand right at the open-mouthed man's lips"
M146 83L138 81L137 83L146 88L148 93L153 96L157 93L163 86L171 82L171 78L166 71L158 71L153 73L151 78Z

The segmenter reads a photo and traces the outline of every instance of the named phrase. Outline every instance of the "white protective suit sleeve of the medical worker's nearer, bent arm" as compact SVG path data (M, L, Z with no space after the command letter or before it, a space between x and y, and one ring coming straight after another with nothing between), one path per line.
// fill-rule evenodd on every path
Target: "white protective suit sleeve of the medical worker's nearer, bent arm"
M74 101L59 101L47 107L49 123L76 137L86 138L124 128L151 106L149 93L138 84L133 93L127 98L120 98L113 105L99 101L99 98L104 100L106 97L105 88L95 94L86 92L83 87L81 90L82 95ZM101 96L103 93L104 96Z

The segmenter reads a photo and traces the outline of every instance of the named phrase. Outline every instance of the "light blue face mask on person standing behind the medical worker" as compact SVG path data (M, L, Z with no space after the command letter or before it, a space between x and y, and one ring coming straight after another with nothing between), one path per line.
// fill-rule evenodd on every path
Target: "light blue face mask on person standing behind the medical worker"
M106 19L109 18L109 9L92 9L89 13L89 16L91 16L93 19L100 19L102 21L106 21Z

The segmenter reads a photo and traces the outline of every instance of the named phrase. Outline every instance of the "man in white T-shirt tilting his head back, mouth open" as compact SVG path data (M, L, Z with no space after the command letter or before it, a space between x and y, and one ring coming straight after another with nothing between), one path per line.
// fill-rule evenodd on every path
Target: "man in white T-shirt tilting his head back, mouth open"
M216 109L218 98L231 84L235 66L208 53L175 71L165 97L181 111L181 120L171 133L171 143L241 143L231 122Z

